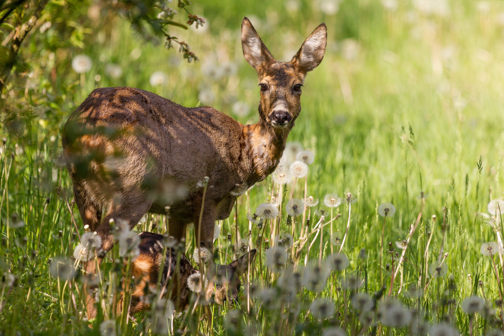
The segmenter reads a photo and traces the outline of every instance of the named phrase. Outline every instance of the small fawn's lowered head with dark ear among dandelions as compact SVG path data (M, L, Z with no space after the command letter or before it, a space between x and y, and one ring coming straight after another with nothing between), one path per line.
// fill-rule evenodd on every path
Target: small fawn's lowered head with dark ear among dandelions
M227 265L212 264L208 268L205 299L214 295L218 304L236 301L240 291L240 276L247 271L249 263L256 256L256 249L250 250Z

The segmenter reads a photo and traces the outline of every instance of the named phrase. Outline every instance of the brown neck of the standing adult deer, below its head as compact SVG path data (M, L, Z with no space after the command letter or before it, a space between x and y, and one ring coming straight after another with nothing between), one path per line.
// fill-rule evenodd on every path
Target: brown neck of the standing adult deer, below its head
M251 184L264 180L276 169L293 125L294 122L285 128L273 127L260 113L257 124L243 126L244 154L250 164L248 180Z

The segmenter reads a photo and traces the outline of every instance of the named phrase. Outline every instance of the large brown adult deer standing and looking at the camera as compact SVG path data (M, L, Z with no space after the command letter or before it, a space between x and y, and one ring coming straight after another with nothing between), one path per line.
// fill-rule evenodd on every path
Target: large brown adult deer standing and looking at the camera
M326 25L321 24L290 62L277 61L243 19L243 55L256 69L261 87L254 125L140 89L94 90L70 115L62 145L80 215L100 235L104 251L114 243L110 219L123 219L133 228L147 212L166 214L166 206L170 235L180 239L186 225L194 223L212 248L214 222L229 217L236 197L277 167L301 111L305 75L322 61L326 41ZM201 182L207 176L198 227ZM88 272L94 272L94 263L88 264Z

